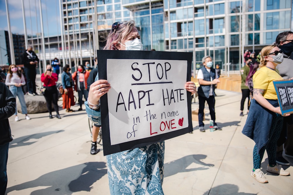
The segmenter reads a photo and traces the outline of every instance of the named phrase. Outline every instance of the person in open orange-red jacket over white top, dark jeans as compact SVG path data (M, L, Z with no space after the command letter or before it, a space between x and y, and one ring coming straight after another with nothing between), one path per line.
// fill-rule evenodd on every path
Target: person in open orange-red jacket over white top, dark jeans
M78 93L78 103L80 108L78 111L82 111L82 96L84 96L85 101L88 99L87 91L87 80L90 72L86 71L83 65L79 65L77 71L72 74L72 79L74 81L74 90Z

